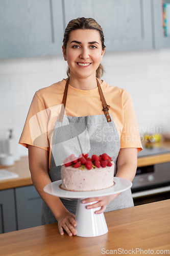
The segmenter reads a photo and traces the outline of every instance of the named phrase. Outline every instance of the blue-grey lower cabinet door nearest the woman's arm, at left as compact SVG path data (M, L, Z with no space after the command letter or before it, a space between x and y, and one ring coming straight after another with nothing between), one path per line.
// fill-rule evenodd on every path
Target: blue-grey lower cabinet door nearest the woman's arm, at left
M41 202L35 187L15 188L18 230L41 225Z

